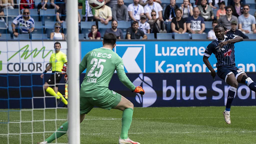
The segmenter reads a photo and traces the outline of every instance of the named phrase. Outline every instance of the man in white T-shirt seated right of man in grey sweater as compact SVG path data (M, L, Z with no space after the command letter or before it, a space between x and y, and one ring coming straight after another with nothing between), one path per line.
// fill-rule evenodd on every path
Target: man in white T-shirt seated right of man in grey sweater
M128 5L128 14L131 20L140 21L141 15L144 15L144 8L139 4L140 0L133 0L132 4Z

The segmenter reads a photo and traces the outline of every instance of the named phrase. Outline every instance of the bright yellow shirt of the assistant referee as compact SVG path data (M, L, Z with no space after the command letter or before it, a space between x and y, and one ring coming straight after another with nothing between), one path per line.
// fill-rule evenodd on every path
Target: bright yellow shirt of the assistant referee
M62 53L61 51L51 54L50 63L52 71L61 72L63 65L67 62L68 60L66 54Z

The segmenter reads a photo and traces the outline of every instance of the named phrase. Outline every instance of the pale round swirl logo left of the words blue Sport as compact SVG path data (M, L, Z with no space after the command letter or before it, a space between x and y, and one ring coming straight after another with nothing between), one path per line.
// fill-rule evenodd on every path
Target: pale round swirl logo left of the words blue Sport
M136 78L132 83L135 86L142 86L145 90L144 95L136 94L135 97L136 101L139 104L142 104L142 107L149 107L156 102L157 94L153 89L153 83L149 77L139 74L139 77Z

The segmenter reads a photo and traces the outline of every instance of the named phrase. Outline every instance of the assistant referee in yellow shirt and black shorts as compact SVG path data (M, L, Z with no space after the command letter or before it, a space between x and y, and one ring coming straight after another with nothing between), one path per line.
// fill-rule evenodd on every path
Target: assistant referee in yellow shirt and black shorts
M46 89L46 92L48 92L50 95L54 96L58 103L60 100L67 105L68 101L62 96L62 94L58 91L58 84L62 78L61 69L64 64L68 65L68 60L66 54L62 53L60 51L61 45L59 42L54 43L54 49L55 53L53 53L50 57L49 65L45 69L44 73L41 74L41 78L44 78L44 74L52 69L52 75L51 77L45 82L44 88ZM55 85L55 86L49 86L49 85Z

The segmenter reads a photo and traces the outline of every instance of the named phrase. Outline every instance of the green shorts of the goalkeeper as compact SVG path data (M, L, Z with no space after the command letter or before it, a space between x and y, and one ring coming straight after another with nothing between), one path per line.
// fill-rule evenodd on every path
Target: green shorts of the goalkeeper
M121 95L113 90L108 90L108 94L98 97L80 96L80 115L88 114L94 106L108 109L115 108L121 101Z

